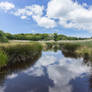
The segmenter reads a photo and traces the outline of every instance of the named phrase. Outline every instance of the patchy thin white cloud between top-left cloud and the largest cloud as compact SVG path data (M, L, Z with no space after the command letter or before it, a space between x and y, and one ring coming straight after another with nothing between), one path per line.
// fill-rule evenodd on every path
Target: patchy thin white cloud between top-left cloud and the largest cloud
M20 16L21 19L26 19L27 17L32 15L41 16L43 14L43 9L44 7L39 5L25 6L24 8L15 11L13 14L15 16Z

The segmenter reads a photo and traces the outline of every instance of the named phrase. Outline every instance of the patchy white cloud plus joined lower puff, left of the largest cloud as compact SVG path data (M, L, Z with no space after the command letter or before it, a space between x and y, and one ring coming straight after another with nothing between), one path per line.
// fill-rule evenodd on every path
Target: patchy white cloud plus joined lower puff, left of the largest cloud
M44 7L40 5L32 5L32 6L25 6L25 8L18 9L14 12L15 16L20 16L21 19L27 19L28 17L32 17L36 23L45 28L53 28L56 26L54 20L43 16Z

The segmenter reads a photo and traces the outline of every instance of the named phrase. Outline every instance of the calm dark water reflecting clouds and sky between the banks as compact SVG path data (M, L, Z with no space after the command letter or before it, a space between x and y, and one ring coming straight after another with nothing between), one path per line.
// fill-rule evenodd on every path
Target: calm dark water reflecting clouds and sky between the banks
M91 62L43 51L33 61L0 73L0 92L92 92Z

